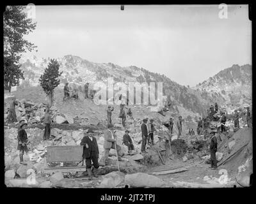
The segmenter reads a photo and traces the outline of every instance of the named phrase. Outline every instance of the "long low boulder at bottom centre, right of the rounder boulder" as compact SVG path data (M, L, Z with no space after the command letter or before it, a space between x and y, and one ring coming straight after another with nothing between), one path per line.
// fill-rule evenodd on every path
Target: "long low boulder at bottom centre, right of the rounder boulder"
M131 187L164 187L163 180L147 173L125 175L125 184Z

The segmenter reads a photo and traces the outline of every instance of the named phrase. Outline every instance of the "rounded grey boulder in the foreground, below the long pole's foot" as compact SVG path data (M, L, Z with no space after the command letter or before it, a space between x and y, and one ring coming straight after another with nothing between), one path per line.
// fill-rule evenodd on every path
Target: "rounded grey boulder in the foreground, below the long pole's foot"
M100 188L113 188L124 182L125 174L119 171L112 171L104 175Z

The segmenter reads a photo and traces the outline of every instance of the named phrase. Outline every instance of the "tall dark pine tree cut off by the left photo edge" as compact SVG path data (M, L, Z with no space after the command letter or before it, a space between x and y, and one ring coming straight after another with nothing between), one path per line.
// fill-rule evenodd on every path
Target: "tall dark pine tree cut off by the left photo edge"
M11 87L19 85L19 79L24 79L19 60L27 50L36 48L33 43L24 39L24 35L31 33L36 23L28 18L24 11L26 6L6 6L3 13L4 40L4 89L11 91Z

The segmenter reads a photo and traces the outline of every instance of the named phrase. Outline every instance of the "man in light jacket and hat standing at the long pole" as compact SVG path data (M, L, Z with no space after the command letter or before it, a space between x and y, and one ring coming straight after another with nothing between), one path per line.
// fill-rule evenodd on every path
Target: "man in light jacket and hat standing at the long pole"
M111 126L108 126L108 130L104 132L104 145L103 145L104 156L102 157L102 161L100 162L102 166L106 165L106 160L108 159L110 149L115 149L115 143L116 143L115 133L116 131ZM123 156L122 149L118 144L116 144L116 150L118 155L118 161L122 161L121 159L121 157Z

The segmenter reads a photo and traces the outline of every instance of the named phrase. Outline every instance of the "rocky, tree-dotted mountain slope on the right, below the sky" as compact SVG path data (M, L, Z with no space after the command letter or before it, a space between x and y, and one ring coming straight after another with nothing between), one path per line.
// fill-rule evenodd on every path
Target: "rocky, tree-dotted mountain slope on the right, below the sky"
M252 103L252 66L234 64L214 77L193 87L205 100L218 101L223 106L241 106Z

